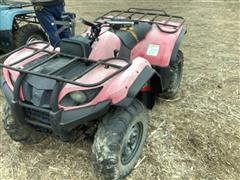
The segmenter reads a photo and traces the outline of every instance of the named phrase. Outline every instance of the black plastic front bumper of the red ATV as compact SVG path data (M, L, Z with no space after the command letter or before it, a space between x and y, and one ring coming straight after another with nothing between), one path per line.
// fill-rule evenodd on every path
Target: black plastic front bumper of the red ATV
M49 129L58 136L64 136L79 125L101 117L111 106L111 101L107 100L95 106L88 106L70 111L63 111L61 109L57 112L53 112L49 109L15 101L12 91L2 78L1 89L5 99L11 107L14 120L24 124L31 124L35 127Z

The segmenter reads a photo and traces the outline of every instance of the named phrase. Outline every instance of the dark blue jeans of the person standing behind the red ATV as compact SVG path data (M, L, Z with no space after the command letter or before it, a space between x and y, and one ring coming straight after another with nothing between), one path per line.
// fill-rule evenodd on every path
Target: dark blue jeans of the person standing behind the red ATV
M52 46L58 47L61 39L70 37L70 29L65 29L59 35L56 34L60 27L54 23L54 20L61 20L62 13L64 13L64 4L43 6L41 10L35 10L35 12L39 23L48 34Z

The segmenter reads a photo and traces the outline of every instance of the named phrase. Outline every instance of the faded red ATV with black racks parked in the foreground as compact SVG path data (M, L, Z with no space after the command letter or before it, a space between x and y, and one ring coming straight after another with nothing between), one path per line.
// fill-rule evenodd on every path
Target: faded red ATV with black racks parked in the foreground
M59 51L32 42L4 57L4 129L27 144L46 135L73 141L97 127L96 174L121 179L142 153L155 97L173 98L179 88L184 19L130 8L81 23L89 29L63 39Z

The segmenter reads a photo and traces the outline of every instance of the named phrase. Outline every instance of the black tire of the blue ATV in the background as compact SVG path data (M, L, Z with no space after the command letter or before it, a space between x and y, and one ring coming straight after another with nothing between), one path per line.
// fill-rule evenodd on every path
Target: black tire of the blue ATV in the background
M16 48L36 40L48 41L48 38L44 31L34 24L27 24L20 27L14 35L14 44Z

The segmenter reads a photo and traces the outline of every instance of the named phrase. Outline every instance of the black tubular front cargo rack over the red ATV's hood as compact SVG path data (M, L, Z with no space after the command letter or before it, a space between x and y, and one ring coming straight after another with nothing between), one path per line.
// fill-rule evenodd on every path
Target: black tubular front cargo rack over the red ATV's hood
M40 48L40 49L32 47L33 45L36 45L36 44L44 44L44 46L42 48ZM90 59L86 59L86 58L82 58L82 57L78 57L78 56L72 56L72 55L69 55L69 54L64 54L64 53L61 53L61 52L52 52L52 51L47 50L47 48L49 46L50 46L49 43L40 42L40 41L29 43L28 45L20 47L20 48L14 50L13 52L8 53L8 54L2 56L1 59L4 60L4 59L8 58L9 56L11 56L12 54L16 53L17 51L21 51L23 49L31 49L31 50L33 50L32 54L30 54L27 57L24 57L24 58L22 58L22 59L20 59L20 60L18 60L16 62L14 62L14 63L11 63L9 65L5 65L3 63L0 63L0 67L20 72L22 75L31 74L31 75L44 77L44 78L49 78L49 79L56 80L58 82L69 83L69 84L73 84L73 85L77 85L77 86L95 87L95 86L99 86L99 85L103 84L104 82L108 81L109 79L113 78L114 76L118 75L122 71L126 70L129 66L131 66L131 61L129 61L128 59L124 59L124 58L114 58L113 57L113 58L108 58L108 59L104 59L104 60L94 61L94 60L90 60ZM23 68L16 68L16 67L14 67L17 64L19 64L19 63L21 63L21 62L23 62L23 61L25 61L25 60L27 60L29 58L34 57L38 53L45 53L45 55L47 55L48 57L46 59L44 59L44 60L41 60L41 61L40 61L41 58L39 58L37 60L34 60L34 63L31 66L27 66L27 67L23 67ZM53 58L56 58L58 56L59 57L69 58L69 62L67 64L65 64L63 67L60 67L60 68L58 68L58 69L56 69L56 70L54 70L54 71L52 71L50 73L47 73L47 74L43 74L43 73L39 73L39 72L34 72L33 71L37 67L39 67L41 65L44 65L45 63L53 60ZM109 62L109 61L115 60L115 59L122 60L122 61L126 62L126 65L120 66L120 65L112 64L112 63ZM89 66L89 68L87 68L85 71L80 72L79 75L77 75L77 77L74 77L72 79L67 79L67 78L63 78L61 76L54 75L56 72L66 68L67 66L69 66L70 64L72 64L72 63L74 63L76 61L82 61L82 62L90 64L91 66ZM116 68L117 70L116 70L116 72L112 73L110 76L104 78L103 80L101 80L101 81L99 81L97 83L85 84L85 83L76 82L77 79L80 79L81 77L83 77L84 75L86 75L88 72L90 72L91 70L93 70L94 68L96 68L99 65L104 65L106 68L113 67L113 68Z

